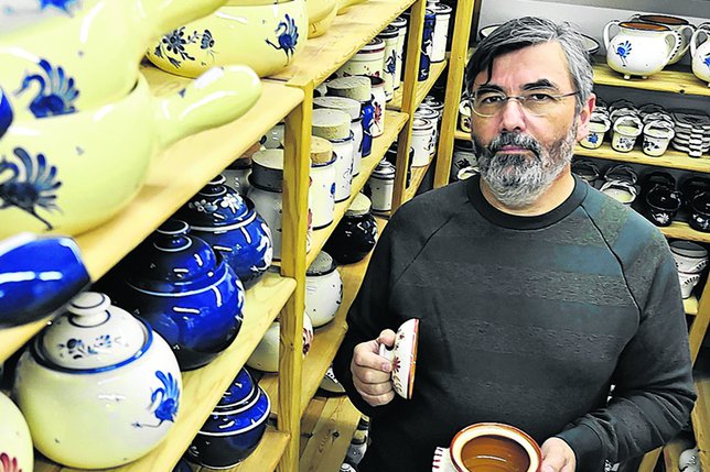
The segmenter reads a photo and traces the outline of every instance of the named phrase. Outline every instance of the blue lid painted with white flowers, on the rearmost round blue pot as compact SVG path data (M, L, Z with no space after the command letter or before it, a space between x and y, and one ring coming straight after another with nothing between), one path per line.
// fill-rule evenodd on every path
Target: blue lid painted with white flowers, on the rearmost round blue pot
M239 193L226 185L227 179L219 174L179 210L192 227L214 228L241 222L249 208Z

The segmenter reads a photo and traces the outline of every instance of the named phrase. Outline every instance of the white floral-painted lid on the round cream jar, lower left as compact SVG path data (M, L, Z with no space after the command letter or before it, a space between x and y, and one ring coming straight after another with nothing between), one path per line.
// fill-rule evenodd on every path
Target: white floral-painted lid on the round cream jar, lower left
M120 364L148 341L146 326L98 292L77 295L67 311L37 341L43 360L54 365L92 370Z

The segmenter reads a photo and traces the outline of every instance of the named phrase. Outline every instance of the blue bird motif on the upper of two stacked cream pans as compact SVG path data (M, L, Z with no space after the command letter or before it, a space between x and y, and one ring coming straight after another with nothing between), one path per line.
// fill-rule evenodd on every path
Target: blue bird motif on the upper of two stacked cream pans
M74 102L79 96L79 91L74 86L74 78L65 75L62 67L52 67L46 59L41 59L39 65L42 74L25 75L22 86L14 95L22 95L33 81L36 81L40 91L30 103L30 111L35 118L74 113L76 111Z

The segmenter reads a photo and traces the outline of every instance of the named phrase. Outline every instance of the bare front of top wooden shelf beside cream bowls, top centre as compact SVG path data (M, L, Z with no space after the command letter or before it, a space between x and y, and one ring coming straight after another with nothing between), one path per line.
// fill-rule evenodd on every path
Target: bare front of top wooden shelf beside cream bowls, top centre
M331 28L305 43L289 67L269 77L292 85L320 85L407 10L413 0L369 0L337 15Z

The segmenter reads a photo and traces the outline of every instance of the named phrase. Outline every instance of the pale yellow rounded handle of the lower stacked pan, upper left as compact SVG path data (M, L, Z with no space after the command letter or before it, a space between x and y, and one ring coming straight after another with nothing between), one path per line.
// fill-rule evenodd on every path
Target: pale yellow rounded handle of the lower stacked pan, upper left
M236 120L260 95L261 81L251 68L211 68L179 92L154 101L159 150L190 134Z

